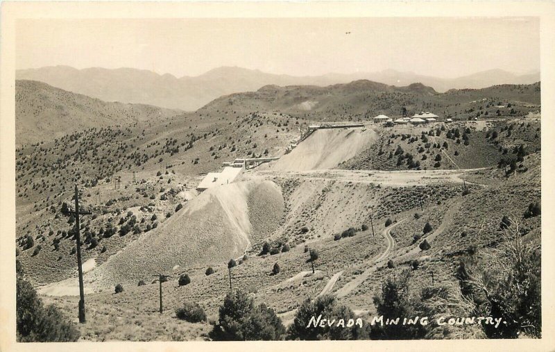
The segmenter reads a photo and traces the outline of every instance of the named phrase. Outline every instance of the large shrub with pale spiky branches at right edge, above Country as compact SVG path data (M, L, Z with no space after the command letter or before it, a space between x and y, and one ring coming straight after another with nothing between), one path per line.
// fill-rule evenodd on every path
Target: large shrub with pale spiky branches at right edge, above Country
M539 338L542 335L541 250L538 233L523 238L515 226L505 228L504 242L487 260L462 262L456 276L469 308L479 315L506 321L498 328L484 326L489 338ZM484 294L488 292L488 294Z

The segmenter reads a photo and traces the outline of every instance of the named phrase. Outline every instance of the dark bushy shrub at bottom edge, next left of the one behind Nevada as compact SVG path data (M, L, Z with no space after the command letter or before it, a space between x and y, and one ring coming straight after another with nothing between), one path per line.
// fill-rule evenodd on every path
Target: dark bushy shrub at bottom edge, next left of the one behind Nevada
M228 292L219 309L219 321L210 332L216 341L280 340L281 319L264 303L255 306L246 292Z

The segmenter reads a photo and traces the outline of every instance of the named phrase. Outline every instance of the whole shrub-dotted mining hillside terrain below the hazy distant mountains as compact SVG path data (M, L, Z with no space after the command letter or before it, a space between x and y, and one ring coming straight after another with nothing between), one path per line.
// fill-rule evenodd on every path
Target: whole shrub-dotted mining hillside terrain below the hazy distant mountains
M16 131L17 260L41 298L74 322L75 219L63 210L73 207L74 185L92 212L80 228L88 263L80 341L212 340L230 285L285 326L305 299L327 295L368 319L391 278L408 275L404 294L419 302L427 287L459 285L461 262L484 265L481 255L510 242L504 217L518 221L526 241L540 238L541 216L527 215L541 202L539 83L444 93L370 81L271 85L195 112L89 100L33 81L16 88L25 126ZM37 103L28 90L46 98ZM31 115L50 119L44 101L82 123L41 129ZM402 106L441 119L372 121L399 117ZM361 127L316 129L300 141L303 126L326 121ZM35 130L44 133L28 133ZM197 190L223 162L261 157L279 159ZM164 314L160 273L169 275ZM114 293L118 284L123 292ZM206 321L176 319L185 302L198 303Z

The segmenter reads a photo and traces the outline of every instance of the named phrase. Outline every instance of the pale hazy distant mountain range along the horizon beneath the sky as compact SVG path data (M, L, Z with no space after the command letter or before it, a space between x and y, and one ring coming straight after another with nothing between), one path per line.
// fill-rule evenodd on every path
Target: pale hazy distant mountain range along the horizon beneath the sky
M420 76L411 72L385 70L355 74L325 74L322 76L288 76L268 74L241 67L219 67L195 77L176 78L171 74L156 74L141 69L75 69L68 66L22 69L17 79L41 81L62 90L85 94L103 101L142 103L162 108L197 110L223 95L253 92L265 85L327 86L370 80L386 85L407 86L422 83L437 92L450 89L483 88L499 84L531 84L540 81L539 72L512 74L501 69L479 72L459 78Z

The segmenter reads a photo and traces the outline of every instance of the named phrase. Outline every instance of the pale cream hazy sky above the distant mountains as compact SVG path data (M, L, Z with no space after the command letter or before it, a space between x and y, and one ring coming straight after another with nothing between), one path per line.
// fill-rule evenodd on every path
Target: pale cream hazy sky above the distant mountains
M17 69L133 67L178 77L220 66L295 76L540 69L533 17L19 19L16 31Z

